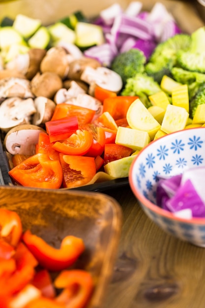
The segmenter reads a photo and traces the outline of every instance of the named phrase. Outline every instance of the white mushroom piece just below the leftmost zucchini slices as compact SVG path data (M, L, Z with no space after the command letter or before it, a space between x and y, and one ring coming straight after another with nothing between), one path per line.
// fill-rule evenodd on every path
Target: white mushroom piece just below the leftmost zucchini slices
M5 67L11 70L17 70L22 74L26 74L29 69L29 53L18 55L8 63L6 63Z

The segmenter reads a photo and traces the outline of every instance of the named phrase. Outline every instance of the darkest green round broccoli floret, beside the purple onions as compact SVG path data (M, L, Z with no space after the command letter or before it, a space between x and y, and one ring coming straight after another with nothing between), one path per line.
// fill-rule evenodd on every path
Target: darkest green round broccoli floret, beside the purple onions
M125 84L128 78L145 70L146 57L139 49L130 49L118 54L111 64L111 69L119 74Z

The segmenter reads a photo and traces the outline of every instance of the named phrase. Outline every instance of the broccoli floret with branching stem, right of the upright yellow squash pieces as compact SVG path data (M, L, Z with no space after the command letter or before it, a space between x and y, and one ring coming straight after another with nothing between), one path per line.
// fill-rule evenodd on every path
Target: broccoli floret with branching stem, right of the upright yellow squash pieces
M189 99L191 100L198 92L202 83L205 82L205 74L198 72L191 72L180 67L173 67L173 79L182 84L188 85Z

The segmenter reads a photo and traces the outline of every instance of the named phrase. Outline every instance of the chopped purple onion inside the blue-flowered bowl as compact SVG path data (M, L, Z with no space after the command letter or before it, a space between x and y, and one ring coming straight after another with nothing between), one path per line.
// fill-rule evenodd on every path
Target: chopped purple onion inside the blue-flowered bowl
M178 217L205 217L204 175L205 167L197 167L168 179L159 179L157 205Z

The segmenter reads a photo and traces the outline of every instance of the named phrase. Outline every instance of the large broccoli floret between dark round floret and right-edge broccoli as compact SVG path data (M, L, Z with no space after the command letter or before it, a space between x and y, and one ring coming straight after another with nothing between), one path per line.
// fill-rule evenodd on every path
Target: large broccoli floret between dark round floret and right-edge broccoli
M147 75L152 76L159 84L164 75L171 77L171 69L177 62L177 52L181 49L187 50L190 44L191 36L182 33L158 44L145 65Z

